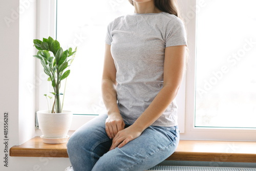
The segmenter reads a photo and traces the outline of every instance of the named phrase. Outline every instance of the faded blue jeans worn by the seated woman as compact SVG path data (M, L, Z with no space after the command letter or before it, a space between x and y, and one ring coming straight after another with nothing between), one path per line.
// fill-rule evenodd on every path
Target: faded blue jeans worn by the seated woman
M99 115L70 137L67 147L74 171L146 170L172 155L178 146L177 126L149 126L138 138L109 151L112 139L105 132L106 118L106 114ZM130 125L125 123L125 127Z

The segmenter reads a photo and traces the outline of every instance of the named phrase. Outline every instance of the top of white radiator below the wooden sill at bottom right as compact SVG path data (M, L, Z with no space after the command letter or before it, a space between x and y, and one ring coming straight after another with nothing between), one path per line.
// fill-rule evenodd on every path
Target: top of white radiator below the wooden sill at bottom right
M197 166L155 166L148 170L177 170L177 171L256 171L256 168L241 167L197 167Z

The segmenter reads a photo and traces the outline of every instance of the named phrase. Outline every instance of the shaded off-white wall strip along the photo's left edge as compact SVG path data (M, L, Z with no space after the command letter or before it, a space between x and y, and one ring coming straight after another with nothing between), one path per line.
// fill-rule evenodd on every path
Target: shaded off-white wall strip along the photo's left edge
M7 170L3 162L5 146L2 143L4 112L9 112L9 148L18 143L19 19L14 12L18 6L18 0L0 3L0 170Z

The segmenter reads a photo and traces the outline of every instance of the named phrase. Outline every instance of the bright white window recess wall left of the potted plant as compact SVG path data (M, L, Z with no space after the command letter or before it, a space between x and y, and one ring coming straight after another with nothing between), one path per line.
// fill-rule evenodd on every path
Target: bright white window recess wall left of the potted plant
M19 144L34 137L36 3L20 1L19 16Z

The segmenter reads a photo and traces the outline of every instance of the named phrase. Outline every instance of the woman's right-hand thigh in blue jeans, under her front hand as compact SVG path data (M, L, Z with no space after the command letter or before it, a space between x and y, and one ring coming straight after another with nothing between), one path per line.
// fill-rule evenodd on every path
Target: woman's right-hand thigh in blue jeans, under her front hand
M138 138L100 157L93 170L146 170L172 155L178 143L178 127L150 126Z

